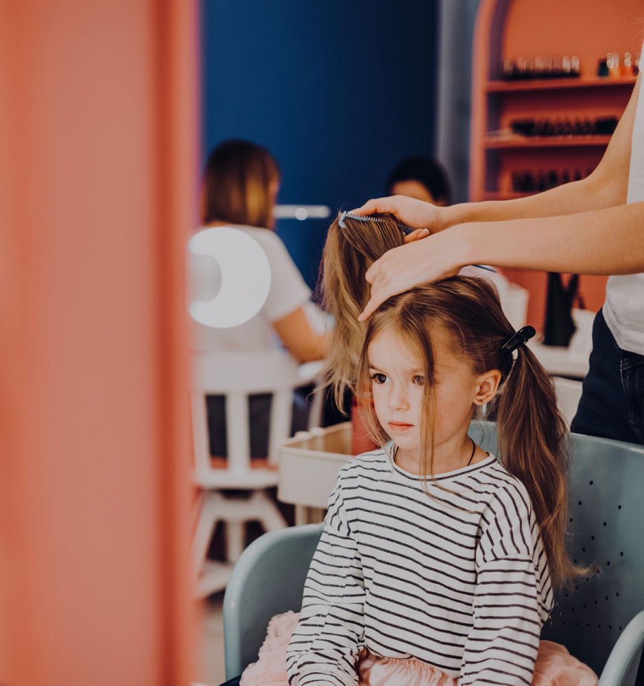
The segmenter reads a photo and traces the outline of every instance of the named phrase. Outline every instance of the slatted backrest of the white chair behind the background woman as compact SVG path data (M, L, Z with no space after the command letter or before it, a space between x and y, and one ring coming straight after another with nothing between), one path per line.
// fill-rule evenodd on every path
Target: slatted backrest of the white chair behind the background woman
M268 458L276 464L278 446L290 434L292 393L302 385L298 363L278 351L198 353L193 360L193 374L191 404L197 480L204 475L204 481L211 482L206 395L226 397L228 471L241 475L250 471L248 396L271 393Z

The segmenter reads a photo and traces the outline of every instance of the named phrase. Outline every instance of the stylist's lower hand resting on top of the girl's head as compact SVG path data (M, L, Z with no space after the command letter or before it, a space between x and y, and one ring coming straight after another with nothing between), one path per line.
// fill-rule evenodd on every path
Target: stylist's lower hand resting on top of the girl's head
M370 318L387 298L420 283L433 283L458 274L468 264L459 228L387 250L367 270L371 299L358 319L363 322Z

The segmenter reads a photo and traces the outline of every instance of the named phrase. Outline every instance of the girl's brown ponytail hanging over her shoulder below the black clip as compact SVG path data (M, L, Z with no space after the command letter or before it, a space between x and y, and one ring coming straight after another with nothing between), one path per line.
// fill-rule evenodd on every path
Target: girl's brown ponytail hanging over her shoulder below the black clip
M525 345L516 350L516 360L495 409L503 464L527 489L553 584L566 586L584 573L571 563L565 546L569 482L567 426L558 410L550 377Z

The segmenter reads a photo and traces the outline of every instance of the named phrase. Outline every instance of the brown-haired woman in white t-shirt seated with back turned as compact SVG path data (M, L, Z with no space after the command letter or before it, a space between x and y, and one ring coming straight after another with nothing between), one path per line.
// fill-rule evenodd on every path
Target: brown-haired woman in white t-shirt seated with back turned
M231 226L252 237L263 249L271 270L271 285L260 311L247 322L230 329L194 324L193 346L201 352L261 352L284 346L299 362L322 359L328 340L315 331L305 313L311 290L281 239L274 233L273 208L280 186L279 167L265 148L249 141L224 141L206 163L202 186L202 228ZM199 260L201 288L211 297L216 289L213 261ZM203 296L203 299L208 299ZM306 408L296 397L294 426L306 428ZM208 427L211 454L224 457L224 397L211 396ZM251 457L267 454L270 394L250 397Z

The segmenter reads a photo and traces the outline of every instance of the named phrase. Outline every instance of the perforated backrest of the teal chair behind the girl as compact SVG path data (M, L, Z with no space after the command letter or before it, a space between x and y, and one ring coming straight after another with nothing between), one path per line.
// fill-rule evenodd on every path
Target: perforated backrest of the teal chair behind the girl
M473 423L470 436L499 456L490 425ZM569 552L600 572L556 595L541 637L601 674L621 632L644 609L644 449L572 434L570 454Z

